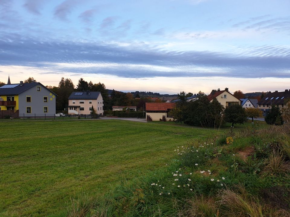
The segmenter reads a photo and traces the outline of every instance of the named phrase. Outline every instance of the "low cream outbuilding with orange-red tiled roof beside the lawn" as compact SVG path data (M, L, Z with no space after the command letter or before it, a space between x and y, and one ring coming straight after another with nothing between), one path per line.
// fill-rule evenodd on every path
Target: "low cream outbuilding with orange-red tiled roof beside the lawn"
M146 102L146 120L147 121L169 121L173 118L168 112L175 107L175 103L167 102Z

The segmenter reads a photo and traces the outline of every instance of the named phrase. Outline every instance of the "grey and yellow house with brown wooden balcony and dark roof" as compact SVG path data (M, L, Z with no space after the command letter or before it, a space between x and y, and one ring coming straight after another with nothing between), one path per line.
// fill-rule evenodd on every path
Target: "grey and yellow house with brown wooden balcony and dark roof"
M6 115L14 118L53 116L56 96L39 82L23 83L20 81L20 83L11 84L9 78L8 84L0 87L1 118Z

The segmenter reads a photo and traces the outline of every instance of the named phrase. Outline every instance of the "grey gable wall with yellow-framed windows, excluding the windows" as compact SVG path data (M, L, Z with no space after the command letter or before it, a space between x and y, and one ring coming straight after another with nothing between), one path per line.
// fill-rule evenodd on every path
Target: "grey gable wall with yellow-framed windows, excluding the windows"
M37 91L37 86L40 86L40 91ZM26 102L26 96L31 96L31 102ZM47 102L43 102L44 96L47 96ZM53 115L55 114L55 100L55 94L45 86L41 84L33 86L18 95L19 115ZM31 113L26 113L26 107L31 107ZM48 111L43 112L43 107L47 107Z

